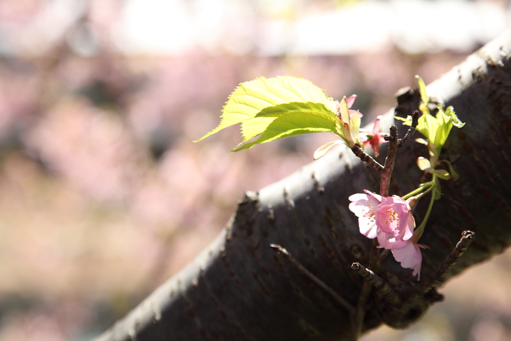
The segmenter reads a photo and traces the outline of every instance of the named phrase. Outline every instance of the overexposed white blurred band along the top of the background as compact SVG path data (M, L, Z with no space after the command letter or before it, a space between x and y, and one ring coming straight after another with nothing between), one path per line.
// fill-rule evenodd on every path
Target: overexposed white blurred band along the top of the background
M392 45L411 54L471 51L511 24L491 0L22 0L0 3L0 53L41 55L62 35L80 54L351 55ZM40 8L43 7L43 10ZM32 17L31 11L37 15ZM116 14L110 15L112 12ZM19 13L26 15L18 15ZM100 22L69 32L77 18ZM26 20L24 20L24 18ZM103 22L102 22L103 21ZM98 29L97 26L96 30ZM100 26L101 27L101 26Z

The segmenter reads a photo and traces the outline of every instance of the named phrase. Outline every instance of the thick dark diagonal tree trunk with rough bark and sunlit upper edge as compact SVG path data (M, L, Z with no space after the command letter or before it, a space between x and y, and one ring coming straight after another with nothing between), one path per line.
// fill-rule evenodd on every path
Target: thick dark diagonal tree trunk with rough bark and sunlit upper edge
M363 307L363 330L381 323L406 327L441 299L431 290L407 301L462 231L474 231L475 239L447 279L511 243L510 56L511 32L506 32L428 86L432 100L454 105L467 123L453 128L440 157L460 178L442 181L442 199L420 240L430 246L422 251L421 281L392 256L374 269L405 303L392 306L373 289ZM418 101L416 92L402 90L396 115L410 115ZM382 126L390 126L393 115L391 110ZM400 137L405 132L400 128ZM404 195L420 183L417 156L427 151L413 141L399 150L390 194ZM341 156L328 153L259 193L247 193L211 245L97 340L353 339L353 314L269 245L282 245L356 307L365 280L351 265L370 268L373 241L359 233L347 198L363 189L378 192L378 178L344 149ZM427 201L415 210L419 223Z

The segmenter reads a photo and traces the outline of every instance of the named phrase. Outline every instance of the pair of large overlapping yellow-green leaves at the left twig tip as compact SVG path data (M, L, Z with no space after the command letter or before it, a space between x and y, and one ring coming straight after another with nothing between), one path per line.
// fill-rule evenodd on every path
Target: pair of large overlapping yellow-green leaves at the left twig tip
M243 141L233 152L311 132L332 132L344 139L336 113L336 102L309 80L260 77L241 83L229 96L218 127L194 142L237 123ZM258 140L248 142L258 135Z

